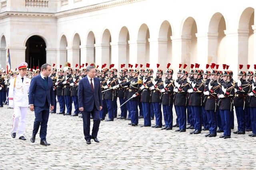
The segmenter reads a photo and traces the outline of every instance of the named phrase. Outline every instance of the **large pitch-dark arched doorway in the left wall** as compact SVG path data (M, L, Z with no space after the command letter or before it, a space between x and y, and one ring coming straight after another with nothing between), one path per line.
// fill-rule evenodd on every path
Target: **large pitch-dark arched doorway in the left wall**
M46 63L46 43L44 40L33 35L26 42L26 62L28 63L28 68L33 68L33 66L38 66L40 68Z

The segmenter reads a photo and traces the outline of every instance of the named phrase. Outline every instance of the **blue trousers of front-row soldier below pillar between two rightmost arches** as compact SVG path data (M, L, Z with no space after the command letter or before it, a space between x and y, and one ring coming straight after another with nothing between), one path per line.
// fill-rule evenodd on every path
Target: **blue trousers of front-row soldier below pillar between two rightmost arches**
M219 110L223 127L223 135L231 135L230 110Z

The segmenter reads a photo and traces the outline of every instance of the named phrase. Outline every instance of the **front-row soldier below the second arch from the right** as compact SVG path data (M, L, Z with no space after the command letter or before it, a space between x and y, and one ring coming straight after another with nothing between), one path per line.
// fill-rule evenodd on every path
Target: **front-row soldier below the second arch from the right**
M211 66L214 68L214 66ZM220 83L217 80L218 70L212 69L210 72L210 82L206 85L204 95L206 96L205 110L209 123L209 133L205 137L216 137L217 135L217 122L216 122L216 110L217 110L217 98L220 91Z

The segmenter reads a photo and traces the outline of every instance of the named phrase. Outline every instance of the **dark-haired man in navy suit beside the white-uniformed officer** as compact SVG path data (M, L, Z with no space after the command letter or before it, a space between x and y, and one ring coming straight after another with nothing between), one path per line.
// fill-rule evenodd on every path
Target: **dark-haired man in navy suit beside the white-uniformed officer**
M35 111L35 121L33 134L30 138L32 143L35 142L36 134L40 129L40 144L47 146L50 143L46 142L47 123L49 118L49 109L54 109L54 90L52 79L48 77L52 67L50 64L44 64L41 68L41 73L31 80L29 89L29 104L30 111Z

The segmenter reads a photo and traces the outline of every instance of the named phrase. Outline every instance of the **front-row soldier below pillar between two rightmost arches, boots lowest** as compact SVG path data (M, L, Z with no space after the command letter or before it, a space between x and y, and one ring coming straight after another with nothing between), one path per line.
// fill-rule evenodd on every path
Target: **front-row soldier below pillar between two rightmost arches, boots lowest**
M232 83L230 80L232 77L230 76L230 70L224 70L222 74L222 78L224 84L221 86L221 90L218 93L218 101L219 109L220 109L220 116L222 121L223 127L223 135L220 138L230 138L231 137L231 126L230 126L230 116L231 116L231 109L232 109L232 102L235 96L234 90L234 82Z

